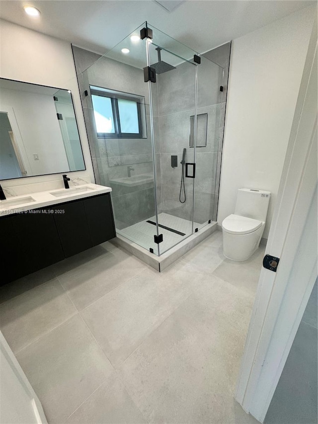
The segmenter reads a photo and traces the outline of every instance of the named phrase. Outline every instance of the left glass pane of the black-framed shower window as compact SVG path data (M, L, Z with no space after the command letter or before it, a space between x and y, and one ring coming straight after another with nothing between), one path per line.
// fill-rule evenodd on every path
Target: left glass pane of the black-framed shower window
M97 133L115 133L113 109L109 97L91 96Z

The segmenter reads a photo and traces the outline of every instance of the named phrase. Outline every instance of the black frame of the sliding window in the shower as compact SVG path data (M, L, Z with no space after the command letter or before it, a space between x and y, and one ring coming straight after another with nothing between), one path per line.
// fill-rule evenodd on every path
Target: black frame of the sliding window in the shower
M128 94L128 93L127 93ZM97 138L144 138L143 137L143 124L142 124L142 111L141 111L141 96L137 95L125 95L125 93L121 93L118 91L107 90L106 88L92 88L90 87L90 96L97 95L101 97L108 97L111 101L111 108L113 112L113 121L114 121L114 133L98 133L96 130ZM138 133L122 133L120 126L120 115L119 115L119 107L118 100L129 100L134 101L137 104L137 117L138 117ZM93 107L94 112L94 107Z

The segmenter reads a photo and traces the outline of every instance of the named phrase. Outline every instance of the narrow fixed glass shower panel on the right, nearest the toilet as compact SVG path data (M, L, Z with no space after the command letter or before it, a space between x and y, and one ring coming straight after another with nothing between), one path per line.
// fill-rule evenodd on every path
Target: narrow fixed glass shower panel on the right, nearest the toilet
M200 230L216 221L225 114L224 69L200 57L197 66L194 226Z

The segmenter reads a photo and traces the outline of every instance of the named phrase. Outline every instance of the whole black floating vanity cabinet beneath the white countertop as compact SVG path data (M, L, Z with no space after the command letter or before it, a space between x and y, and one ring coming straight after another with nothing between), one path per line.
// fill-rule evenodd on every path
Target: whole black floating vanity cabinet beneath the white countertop
M109 193L0 217L0 284L114 237Z

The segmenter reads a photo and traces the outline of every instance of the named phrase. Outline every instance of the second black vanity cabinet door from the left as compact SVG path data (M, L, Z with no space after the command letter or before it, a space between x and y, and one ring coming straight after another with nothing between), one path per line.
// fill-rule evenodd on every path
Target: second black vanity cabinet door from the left
M64 259L54 217L47 208L14 215L12 223L18 238L16 251L19 263L24 266L24 275Z

